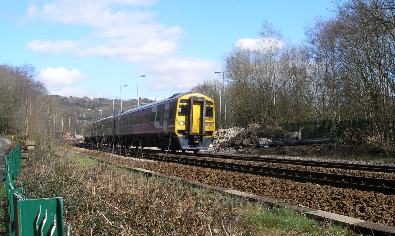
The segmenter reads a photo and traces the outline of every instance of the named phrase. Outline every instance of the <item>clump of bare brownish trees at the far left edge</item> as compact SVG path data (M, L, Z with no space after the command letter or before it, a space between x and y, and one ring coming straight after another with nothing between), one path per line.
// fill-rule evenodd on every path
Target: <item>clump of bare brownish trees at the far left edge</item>
M0 132L33 139L46 147L54 134L56 106L35 78L31 65L0 65Z

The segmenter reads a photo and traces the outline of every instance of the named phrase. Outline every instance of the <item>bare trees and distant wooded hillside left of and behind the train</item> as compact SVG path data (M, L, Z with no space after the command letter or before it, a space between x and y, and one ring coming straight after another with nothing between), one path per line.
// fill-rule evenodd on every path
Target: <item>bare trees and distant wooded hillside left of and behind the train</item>
M38 147L47 148L63 131L83 134L88 122L112 116L120 111L120 100L49 95L47 88L36 81L32 65L0 64L0 133L33 139ZM140 103L153 102L141 98ZM114 104L114 106L113 106ZM137 107L137 99L123 100L123 109Z

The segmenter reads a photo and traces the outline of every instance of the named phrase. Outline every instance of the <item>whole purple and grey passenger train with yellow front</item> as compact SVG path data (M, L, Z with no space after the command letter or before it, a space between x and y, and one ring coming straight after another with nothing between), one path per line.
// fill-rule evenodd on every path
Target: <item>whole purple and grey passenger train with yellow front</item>
M214 109L214 100L205 95L174 94L88 124L85 142L197 153L208 149L214 136Z

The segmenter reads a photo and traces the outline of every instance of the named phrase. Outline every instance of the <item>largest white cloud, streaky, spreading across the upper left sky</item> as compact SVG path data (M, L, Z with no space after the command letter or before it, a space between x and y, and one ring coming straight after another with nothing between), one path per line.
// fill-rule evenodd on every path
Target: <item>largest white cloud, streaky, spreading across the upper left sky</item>
M26 47L36 53L99 56L128 62L168 57L178 50L177 40L184 33L179 26L156 22L156 12L136 8L155 3L156 0L54 0L32 4L26 13L28 18L88 26L91 30L81 36L83 40L36 39Z

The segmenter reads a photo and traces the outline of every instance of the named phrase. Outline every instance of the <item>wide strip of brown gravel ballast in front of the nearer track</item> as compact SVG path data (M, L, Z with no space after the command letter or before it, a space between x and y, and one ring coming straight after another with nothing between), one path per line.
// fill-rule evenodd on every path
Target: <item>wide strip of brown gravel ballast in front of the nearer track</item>
M205 184L276 198L294 205L306 206L374 223L395 226L395 195L332 188L329 186L298 183L271 177L197 168L180 164L141 161L135 158L120 157L71 146L67 148L120 165L144 168ZM310 167L309 170L311 170ZM389 178L393 177L390 176Z

